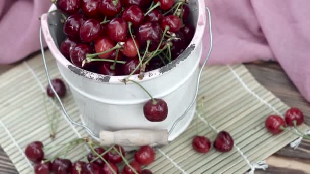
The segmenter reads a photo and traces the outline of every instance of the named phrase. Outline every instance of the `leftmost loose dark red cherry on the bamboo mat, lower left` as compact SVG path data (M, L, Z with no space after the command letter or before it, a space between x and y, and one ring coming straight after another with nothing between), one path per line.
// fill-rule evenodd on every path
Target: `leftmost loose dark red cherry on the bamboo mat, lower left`
M43 144L40 141L30 143L25 149L25 155L30 161L41 162L44 158Z

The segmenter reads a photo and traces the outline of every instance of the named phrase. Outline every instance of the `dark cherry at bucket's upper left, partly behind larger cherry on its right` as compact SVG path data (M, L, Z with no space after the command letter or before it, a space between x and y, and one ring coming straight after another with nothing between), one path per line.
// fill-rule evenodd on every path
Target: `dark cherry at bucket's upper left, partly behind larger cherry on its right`
M68 36L79 38L80 27L84 21L85 19L81 14L69 16L64 24L64 33Z

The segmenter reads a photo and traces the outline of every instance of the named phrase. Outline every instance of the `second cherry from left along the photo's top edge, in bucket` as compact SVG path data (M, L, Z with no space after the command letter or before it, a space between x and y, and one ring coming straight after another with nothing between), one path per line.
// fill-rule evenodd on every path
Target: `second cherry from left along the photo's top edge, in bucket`
M96 20L104 19L104 15L100 13L100 4L101 0L81 0L81 8L85 16Z

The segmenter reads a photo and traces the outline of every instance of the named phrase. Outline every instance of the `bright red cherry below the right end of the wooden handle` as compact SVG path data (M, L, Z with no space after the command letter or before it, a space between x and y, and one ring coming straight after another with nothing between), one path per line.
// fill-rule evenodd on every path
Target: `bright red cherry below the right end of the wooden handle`
M152 147L150 146L142 146L136 153L135 153L135 160L142 164L148 165L155 160L155 152Z

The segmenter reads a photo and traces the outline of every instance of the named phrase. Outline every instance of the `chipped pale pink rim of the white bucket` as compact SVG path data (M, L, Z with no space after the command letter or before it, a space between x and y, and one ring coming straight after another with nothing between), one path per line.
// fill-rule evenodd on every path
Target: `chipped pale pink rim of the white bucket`
M183 60L180 60L179 58L172 61L171 63L153 70L153 71L149 71L145 73L145 76L143 78L143 80L139 80L138 75L132 75L131 79L132 80L137 80L139 82L142 81L147 81L159 76L162 76L172 70L174 70L176 67L178 67L180 64L182 64L184 62L184 60L187 59L187 57L191 54L191 52L195 49L195 47L197 45L199 45L200 42L202 42L202 38L203 38L203 34L204 34L204 29L205 29L205 25L206 25L206 13L205 13L205 4L204 4L204 0L198 0L198 20L197 20L197 24L196 24L196 31L194 34L194 37L191 41L191 43L189 44L189 46L187 47L187 49L182 53L182 54L187 54L187 55L180 55L179 57L184 57ZM49 9L50 11L56 10L56 6L52 5ZM56 58L57 62L60 63L61 65L63 65L64 67L66 67L67 69L69 69L70 71L72 71L73 73L75 73L76 75L82 76L84 78L87 78L89 80L93 80L96 82L101 82L101 83L116 83L116 84L123 84L123 82L121 82L121 79L124 79L127 76L107 76L107 75L101 75L101 74L97 74L97 73L93 73L87 70L83 70L79 67L74 66L71 62L69 62L66 57L64 57L62 55L62 53L60 52L60 50L58 49L57 45L55 44L53 38L51 37L51 34L49 32L49 28L48 28L48 14L45 13L41 16L41 25L42 25L42 31L43 31L43 35L45 38L45 41L47 43L47 46L49 48L49 50L51 51L51 53L54 55L54 57ZM197 61L200 61L200 59L197 59Z

